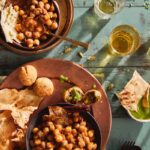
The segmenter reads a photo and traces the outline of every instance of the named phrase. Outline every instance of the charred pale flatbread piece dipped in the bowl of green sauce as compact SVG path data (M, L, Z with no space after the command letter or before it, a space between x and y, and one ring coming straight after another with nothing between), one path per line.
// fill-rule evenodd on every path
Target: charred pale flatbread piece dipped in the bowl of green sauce
M138 102L144 96L149 84L135 71L124 90L118 94L122 106L127 110L137 111Z

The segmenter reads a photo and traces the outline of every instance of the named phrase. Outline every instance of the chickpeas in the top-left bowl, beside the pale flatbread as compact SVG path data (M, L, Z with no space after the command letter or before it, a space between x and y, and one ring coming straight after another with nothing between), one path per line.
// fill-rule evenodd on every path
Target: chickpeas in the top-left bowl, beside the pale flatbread
M17 39L28 48L37 47L58 28L58 13L53 2L28 0L24 9L14 6L19 12L16 31Z

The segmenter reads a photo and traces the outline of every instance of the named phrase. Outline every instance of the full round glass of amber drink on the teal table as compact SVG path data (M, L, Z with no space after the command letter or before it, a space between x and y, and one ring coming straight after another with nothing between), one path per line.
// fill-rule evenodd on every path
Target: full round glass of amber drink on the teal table
M110 53L118 56L132 54L139 48L140 42L140 35L134 27L120 25L110 34Z

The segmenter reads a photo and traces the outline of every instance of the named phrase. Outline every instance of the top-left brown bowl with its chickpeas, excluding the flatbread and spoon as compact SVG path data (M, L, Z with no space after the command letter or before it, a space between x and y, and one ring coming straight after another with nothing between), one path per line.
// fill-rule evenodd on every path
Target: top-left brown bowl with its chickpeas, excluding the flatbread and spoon
M66 36L73 22L72 0L7 0L18 11L17 40L6 42L2 28L0 43L13 52L32 55L47 52L62 40L53 34ZM7 5L8 5L7 4ZM64 18L65 17L65 18ZM18 42L19 40L19 42Z

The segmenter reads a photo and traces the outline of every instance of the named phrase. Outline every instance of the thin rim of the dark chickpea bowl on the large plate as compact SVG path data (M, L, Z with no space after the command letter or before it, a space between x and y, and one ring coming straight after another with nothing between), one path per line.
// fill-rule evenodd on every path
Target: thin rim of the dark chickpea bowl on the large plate
M30 126L32 125L33 122L37 121L38 114L42 113L43 111L46 111L46 109L48 109L49 106L60 106L60 107L63 107L63 106L74 106L74 104L57 103L57 104L48 105L44 109L40 109L40 110L37 109L37 110L35 110L33 112L33 114L30 116L30 120L29 120L29 123L28 123L28 128L27 128L26 135L25 135L25 142L26 142L26 149L27 150L30 150L30 146L29 146L29 137L31 135L31 128L30 128ZM99 130L98 133L99 133L100 143L99 143L99 147L98 147L99 149L98 150L100 150L101 149L101 130L100 130L100 127L99 127L97 121L95 120L95 118L92 116L92 114L90 112L84 111L83 113L85 113L85 115L88 115L90 117L90 119L92 119L92 122L95 124L96 128ZM35 119L36 121L34 121L34 117L36 118Z

